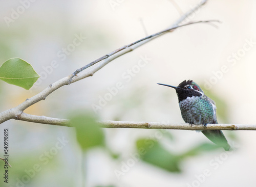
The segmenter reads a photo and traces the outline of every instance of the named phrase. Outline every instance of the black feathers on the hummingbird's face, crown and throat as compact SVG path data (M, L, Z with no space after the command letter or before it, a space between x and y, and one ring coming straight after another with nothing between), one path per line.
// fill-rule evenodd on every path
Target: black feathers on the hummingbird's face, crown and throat
M192 80L188 80L188 81L183 81L182 83L179 84L178 89L176 90L176 93L178 95L178 99L179 102L183 101L184 99L186 99L187 97L193 97L193 96L202 96L202 94L200 92L197 92L193 89L189 89L185 86L187 85L191 85L192 84Z

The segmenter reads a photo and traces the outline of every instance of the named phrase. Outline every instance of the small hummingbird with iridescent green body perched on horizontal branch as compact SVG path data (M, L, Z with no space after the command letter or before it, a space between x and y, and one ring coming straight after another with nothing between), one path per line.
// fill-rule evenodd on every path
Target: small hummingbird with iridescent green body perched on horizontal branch
M176 90L181 116L190 125L203 125L207 123L217 124L216 104L204 94L204 91L192 80L183 81L179 86L160 84ZM203 134L216 145L223 147L226 151L230 149L221 130L202 130Z

